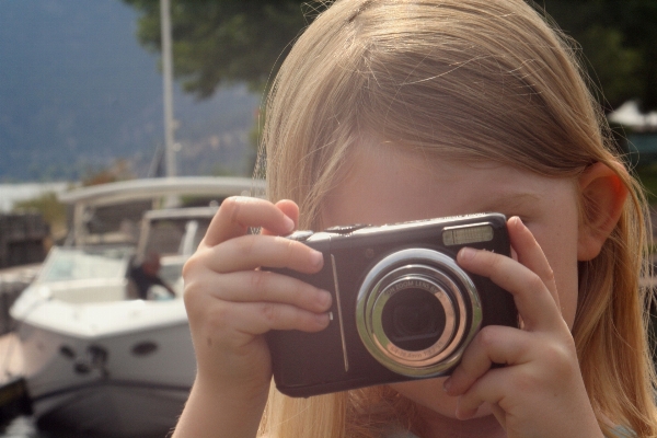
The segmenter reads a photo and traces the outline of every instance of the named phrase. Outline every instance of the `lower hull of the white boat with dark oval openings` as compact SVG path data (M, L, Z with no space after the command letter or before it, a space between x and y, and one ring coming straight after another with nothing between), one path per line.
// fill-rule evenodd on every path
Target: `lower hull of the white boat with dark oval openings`
M162 437L175 425L195 378L186 319L91 337L23 322L19 338L42 427Z

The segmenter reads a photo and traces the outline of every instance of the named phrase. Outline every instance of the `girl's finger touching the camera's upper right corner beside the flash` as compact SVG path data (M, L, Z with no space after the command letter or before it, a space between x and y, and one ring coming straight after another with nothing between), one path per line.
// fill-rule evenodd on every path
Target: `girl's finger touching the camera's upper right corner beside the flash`
M527 266L531 272L535 273L541 278L550 291L550 295L552 295L552 298L556 302L557 309L561 309L558 303L558 293L556 291L554 270L552 270L552 267L548 262L548 257L545 257L543 250L534 239L531 231L518 217L512 217L508 220L507 229L509 231L511 247L517 254L518 262Z

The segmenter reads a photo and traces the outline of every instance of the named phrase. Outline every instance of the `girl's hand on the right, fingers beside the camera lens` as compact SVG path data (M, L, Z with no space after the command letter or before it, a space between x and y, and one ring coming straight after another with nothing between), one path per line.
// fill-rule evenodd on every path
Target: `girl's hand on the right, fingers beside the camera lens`
M518 261L463 249L458 262L508 290L523 326L486 326L468 346L445 382L447 393L459 396L457 417L470 418L487 402L508 437L602 437L552 268L519 218L507 228ZM493 362L506 366L491 368Z

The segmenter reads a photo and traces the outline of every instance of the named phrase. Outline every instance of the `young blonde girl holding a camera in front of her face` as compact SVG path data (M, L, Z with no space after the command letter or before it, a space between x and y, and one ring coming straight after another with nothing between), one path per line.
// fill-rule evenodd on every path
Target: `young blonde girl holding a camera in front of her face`
M656 436L645 205L596 108L522 0L335 1L273 87L270 203L227 199L185 266L198 373L174 437ZM328 292L258 269L322 267L283 235L480 211L510 218L512 257L458 263L514 296L521 328L480 331L449 378L269 391L263 335L333 323Z

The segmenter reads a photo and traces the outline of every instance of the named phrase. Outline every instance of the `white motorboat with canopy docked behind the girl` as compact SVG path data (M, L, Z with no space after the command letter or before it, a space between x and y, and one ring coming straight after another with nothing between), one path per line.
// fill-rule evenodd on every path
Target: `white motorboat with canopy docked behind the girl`
M103 229L93 224L94 212L126 201L165 204L182 195L211 196L218 204L254 188L262 189L262 183L158 178L61 196L74 211L70 240L50 251L11 309L39 425L90 436L162 437L175 424L195 377L181 270L216 205L147 211L138 242L130 241L135 224ZM93 232L94 227L104 232ZM161 255L160 277L174 298L154 286L150 299L135 299L130 265L151 252Z

